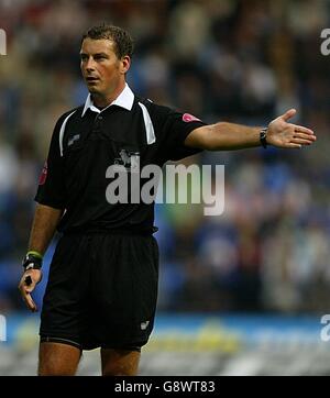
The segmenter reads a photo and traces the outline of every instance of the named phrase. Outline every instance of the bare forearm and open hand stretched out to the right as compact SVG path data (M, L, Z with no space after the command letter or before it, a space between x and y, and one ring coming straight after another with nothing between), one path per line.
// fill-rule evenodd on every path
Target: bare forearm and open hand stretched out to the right
M296 113L288 110L268 124L267 144L283 148L299 148L316 141L314 131L301 125L288 123ZM231 151L260 146L262 128L250 128L234 123L219 122L194 130L185 145L207 151Z

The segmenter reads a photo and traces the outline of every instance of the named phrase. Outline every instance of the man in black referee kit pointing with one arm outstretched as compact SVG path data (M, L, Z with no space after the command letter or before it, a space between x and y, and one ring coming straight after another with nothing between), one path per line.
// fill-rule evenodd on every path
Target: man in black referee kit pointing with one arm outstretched
M19 286L28 308L36 311L31 292L57 229L62 237L41 314L40 375L74 375L81 351L95 347L101 347L103 375L136 375L152 332L158 268L154 203L109 203L110 165L132 174L133 158L141 167L161 166L202 150L299 148L316 140L311 130L288 123L294 109L262 129L206 125L142 100L125 82L132 51L123 30L91 27L80 49L89 96L54 129Z

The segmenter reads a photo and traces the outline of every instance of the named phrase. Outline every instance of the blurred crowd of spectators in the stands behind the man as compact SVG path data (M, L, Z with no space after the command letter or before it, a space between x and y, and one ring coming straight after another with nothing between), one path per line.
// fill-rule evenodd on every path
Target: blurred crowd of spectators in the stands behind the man
M57 118L86 99L81 33L103 21L134 37L128 81L141 96L208 123L265 125L296 108L318 135L300 151L184 161L226 166L226 207L206 217L204 204L156 206L160 310L327 312L329 1L0 0L0 313L23 309L38 174Z

